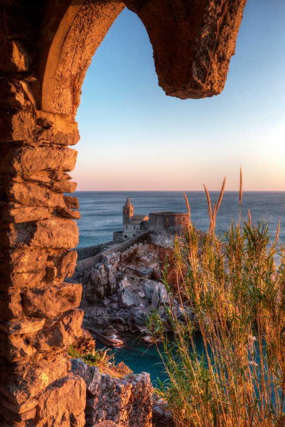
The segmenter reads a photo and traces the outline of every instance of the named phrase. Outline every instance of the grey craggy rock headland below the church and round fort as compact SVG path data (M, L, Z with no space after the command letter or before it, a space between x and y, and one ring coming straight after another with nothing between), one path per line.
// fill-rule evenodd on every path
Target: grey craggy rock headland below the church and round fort
M160 233L146 233L129 247L102 252L88 262L78 262L74 282L82 283L80 308L82 326L95 338L111 346L123 345L120 332L139 331L150 340L146 317L152 309L166 316L169 296L161 281L165 256L170 256L173 239L181 227L172 226ZM179 303L173 301L179 312Z

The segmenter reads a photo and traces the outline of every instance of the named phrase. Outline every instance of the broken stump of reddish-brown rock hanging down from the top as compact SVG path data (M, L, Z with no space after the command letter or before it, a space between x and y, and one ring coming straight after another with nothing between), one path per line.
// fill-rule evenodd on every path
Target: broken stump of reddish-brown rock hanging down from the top
M246 0L124 3L146 26L166 95L187 99L221 93Z

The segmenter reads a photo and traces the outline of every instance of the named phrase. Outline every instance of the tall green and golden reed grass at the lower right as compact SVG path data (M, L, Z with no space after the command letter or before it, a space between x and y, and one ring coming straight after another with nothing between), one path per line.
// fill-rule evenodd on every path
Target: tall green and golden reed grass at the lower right
M213 207L205 187L208 232L202 235L189 226L175 239L175 287L165 263L168 320L159 312L148 320L154 341L163 344L163 350L157 349L168 376L159 392L178 427L283 427L285 248L278 239L280 222L273 242L266 223L254 225L249 211L248 221L241 225L239 220L216 236L224 184ZM241 206L242 172L240 188ZM166 326L172 335L165 333ZM201 333L203 352L195 346L195 333Z

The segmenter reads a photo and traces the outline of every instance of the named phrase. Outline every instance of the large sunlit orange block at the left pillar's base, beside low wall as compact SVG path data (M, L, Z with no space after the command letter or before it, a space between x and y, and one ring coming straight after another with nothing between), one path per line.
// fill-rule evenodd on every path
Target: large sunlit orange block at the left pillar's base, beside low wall
M50 384L37 405L38 427L83 427L86 385L78 376L69 375ZM71 421L72 420L72 421ZM72 424L71 424L72 422Z

